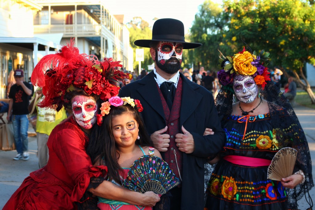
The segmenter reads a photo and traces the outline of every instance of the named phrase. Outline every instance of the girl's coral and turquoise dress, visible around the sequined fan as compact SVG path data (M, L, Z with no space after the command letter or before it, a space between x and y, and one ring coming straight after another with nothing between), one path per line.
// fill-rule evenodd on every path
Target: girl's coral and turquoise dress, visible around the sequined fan
M146 155L146 153L143 151L141 146L139 146L139 147L142 150L143 155ZM149 155L154 155L154 148L153 147L149 147ZM120 180L122 183L127 178L129 170L130 170L130 168L123 168L123 174L120 175ZM107 180L111 181L114 184L117 184L114 180L112 180L110 178L108 178ZM117 185L120 185L120 184L117 184ZM137 205L129 204L129 203L122 202L122 201L109 200L109 199L102 198L102 197L99 197L99 203L98 203L97 207L99 207L100 210L116 210L116 209L119 209L119 210L152 210L152 207L137 206Z

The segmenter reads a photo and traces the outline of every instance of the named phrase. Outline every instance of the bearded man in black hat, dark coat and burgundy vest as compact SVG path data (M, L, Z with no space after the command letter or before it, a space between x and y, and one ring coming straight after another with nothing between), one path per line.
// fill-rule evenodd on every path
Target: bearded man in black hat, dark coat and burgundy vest
M223 148L225 133L212 94L178 71L183 49L201 44L185 42L181 21L160 19L153 25L152 40L136 40L135 45L150 48L155 68L123 87L120 96L140 100L155 148L181 180L170 190L170 209L202 210L204 163ZM215 134L203 136L206 128Z

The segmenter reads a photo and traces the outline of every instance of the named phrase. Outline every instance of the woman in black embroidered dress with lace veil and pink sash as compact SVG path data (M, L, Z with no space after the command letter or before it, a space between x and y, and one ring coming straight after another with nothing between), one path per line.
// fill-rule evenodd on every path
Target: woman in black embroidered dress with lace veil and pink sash
M216 108L227 140L211 161L219 160L208 183L207 209L296 209L297 200L314 185L305 134L292 107L270 81L268 56L244 48L219 60L222 88ZM293 174L282 181L267 179L273 156L284 147L297 150Z

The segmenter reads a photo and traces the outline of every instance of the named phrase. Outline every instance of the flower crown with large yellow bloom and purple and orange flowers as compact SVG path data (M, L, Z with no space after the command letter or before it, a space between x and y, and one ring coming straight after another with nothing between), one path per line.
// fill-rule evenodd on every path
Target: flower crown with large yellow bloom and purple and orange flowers
M261 85L261 89L264 89L267 84L266 81L270 81L270 72L267 71L268 68L266 67L269 54L269 52L261 50L257 56L256 51L251 54L245 50L245 47L241 52L234 54L233 57L225 57L221 53L223 59L220 56L220 64L218 66L223 69L218 71L219 82L222 86L228 88L232 86L233 78L236 75L251 75L254 77L255 83Z

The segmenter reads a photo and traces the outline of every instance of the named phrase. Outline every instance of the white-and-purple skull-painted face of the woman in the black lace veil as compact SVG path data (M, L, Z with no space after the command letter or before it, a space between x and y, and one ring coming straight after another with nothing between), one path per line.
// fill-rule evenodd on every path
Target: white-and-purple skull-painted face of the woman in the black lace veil
M233 90L238 100L243 103L251 103L258 94L258 86L250 75L237 75L233 80Z

